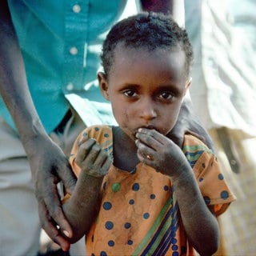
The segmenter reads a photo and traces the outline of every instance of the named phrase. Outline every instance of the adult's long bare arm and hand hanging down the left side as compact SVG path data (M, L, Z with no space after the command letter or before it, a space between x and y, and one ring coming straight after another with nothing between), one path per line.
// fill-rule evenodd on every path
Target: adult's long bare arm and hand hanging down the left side
M56 223L72 235L62 212L56 184L62 180L66 190L73 190L76 179L62 150L51 141L35 110L26 81L26 72L18 38L7 1L0 2L0 93L18 129L38 198L38 210L46 233L63 249L69 243Z

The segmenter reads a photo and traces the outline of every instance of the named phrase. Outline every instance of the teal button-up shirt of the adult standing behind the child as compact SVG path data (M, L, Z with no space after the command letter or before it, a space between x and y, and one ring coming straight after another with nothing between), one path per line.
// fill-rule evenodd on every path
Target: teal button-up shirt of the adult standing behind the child
M126 0L9 1L30 93L47 132L58 126L69 109L66 94L86 98L88 120L95 118L91 113L104 114L101 103L106 100L95 80L99 54L106 32L125 6ZM14 126L2 99L0 114Z

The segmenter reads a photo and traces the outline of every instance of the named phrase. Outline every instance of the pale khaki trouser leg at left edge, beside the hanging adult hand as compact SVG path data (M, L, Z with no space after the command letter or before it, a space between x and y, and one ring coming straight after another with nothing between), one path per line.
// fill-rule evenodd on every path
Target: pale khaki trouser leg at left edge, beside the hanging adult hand
M0 255L37 255L39 235L30 165L18 134L0 117Z

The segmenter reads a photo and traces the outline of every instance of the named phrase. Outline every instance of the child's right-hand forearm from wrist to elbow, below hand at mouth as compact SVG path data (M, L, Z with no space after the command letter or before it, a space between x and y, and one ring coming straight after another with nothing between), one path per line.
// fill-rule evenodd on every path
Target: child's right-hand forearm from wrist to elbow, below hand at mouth
M212 255L218 250L218 222L206 206L191 167L186 163L178 170L180 174L171 178L182 223L194 249L200 255Z

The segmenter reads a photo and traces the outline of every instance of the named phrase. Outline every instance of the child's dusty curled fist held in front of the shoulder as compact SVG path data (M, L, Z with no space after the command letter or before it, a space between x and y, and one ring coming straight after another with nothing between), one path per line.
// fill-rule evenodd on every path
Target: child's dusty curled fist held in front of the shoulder
M92 138L79 146L75 162L81 173L98 178L103 177L111 165L109 155Z

